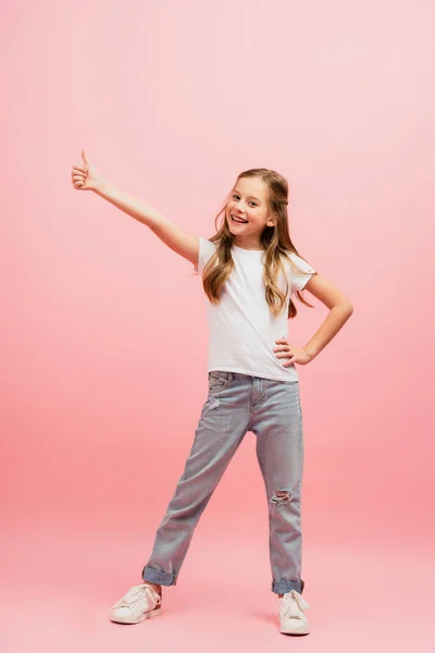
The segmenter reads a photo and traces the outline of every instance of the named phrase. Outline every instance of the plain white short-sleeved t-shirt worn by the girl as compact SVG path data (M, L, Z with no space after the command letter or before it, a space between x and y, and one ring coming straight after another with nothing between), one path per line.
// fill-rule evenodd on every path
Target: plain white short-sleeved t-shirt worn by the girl
M215 243L199 236L199 260L198 266L194 266L196 272L202 273L215 249ZM282 361L288 359L276 358L273 348L277 346L276 340L287 338L290 295L301 291L312 274L296 274L289 261L285 261L289 292L286 309L275 317L265 300L263 251L243 249L236 245L232 247L234 268L225 282L220 304L208 300L208 371L241 372L274 381L297 380L295 364L284 367ZM300 270L315 272L293 251L287 254ZM278 279L278 285L284 292L283 275Z

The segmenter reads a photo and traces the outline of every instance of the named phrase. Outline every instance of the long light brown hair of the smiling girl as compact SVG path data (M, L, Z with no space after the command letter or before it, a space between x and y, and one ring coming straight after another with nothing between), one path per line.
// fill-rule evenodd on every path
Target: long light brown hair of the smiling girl
M237 182L243 177L260 177L265 183L268 188L270 217L276 217L275 226L265 226L260 239L265 252L263 278L265 299L273 315L278 316L285 308L286 296L288 292L287 280L285 293L283 293L277 285L278 275L282 271L284 271L283 257L290 261L290 266L296 272L302 274L308 273L299 270L299 268L287 255L288 251L294 251L297 256L300 256L295 245L291 243L291 238L288 233L287 180L274 170L269 170L268 168L253 168L251 170L246 170L238 175L233 189L226 196L224 205L214 220L216 233L211 236L209 241L211 243L216 243L216 251L204 266L202 272L202 286L209 300L212 304L219 304L224 283L229 276L234 267L234 260L231 250L235 238L231 233L226 221L226 206L232 193L234 192L234 188L237 186ZM219 227L217 222L220 215L222 214L223 222ZM314 274L316 274L316 272ZM296 295L302 304L310 308L314 308L311 304L303 299L301 292L296 291ZM288 319L295 318L297 312L296 306L290 298L288 305Z

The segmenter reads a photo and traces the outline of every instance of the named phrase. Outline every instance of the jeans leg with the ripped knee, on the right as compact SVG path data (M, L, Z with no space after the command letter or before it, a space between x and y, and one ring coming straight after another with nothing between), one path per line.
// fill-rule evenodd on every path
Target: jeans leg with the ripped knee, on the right
M272 591L301 593L303 472L302 410L298 381L258 379L259 402L249 428L268 496Z

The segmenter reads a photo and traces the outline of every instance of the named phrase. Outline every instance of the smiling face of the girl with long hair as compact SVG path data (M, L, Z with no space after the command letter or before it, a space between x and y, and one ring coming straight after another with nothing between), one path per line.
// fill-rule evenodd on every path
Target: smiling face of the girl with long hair
M272 226L269 219L268 186L259 177L243 177L233 189L226 206L226 222L236 245L254 245L260 243L264 227ZM246 222L236 222L239 217Z

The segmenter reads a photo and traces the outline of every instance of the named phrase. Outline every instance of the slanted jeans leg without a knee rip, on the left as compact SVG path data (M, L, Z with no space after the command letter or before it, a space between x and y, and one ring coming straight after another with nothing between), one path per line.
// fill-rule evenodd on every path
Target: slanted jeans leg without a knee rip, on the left
M190 455L156 534L142 579L176 584L194 530L249 421L250 382L233 372L209 373L209 396L202 407Z

